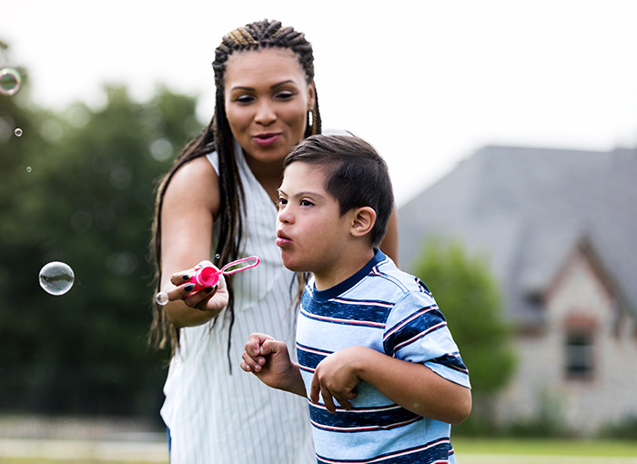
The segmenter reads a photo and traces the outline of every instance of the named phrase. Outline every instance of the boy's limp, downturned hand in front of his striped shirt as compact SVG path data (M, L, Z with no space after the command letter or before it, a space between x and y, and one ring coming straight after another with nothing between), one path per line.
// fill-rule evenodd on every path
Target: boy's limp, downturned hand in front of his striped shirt
M349 399L359 395L356 391L356 386L360 381L356 374L356 363L362 358L361 355L366 349L369 348L344 348L320 361L309 390L309 399L312 403L319 402L320 393L329 412L336 411L334 399L339 401L343 408L351 409Z

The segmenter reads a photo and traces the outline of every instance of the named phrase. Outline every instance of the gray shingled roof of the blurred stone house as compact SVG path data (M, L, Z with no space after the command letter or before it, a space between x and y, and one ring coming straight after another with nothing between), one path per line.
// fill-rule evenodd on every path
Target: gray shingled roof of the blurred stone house
M585 239L635 311L637 149L486 146L400 207L399 233L406 270L428 234L486 255L511 318L526 323L540 321L532 297Z

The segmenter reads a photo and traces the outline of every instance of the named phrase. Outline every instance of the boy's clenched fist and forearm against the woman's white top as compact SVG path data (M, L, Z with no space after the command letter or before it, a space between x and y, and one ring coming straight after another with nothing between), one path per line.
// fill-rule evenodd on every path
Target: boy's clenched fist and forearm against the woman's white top
M306 397L300 369L289 358L285 342L265 334L251 334L242 358L241 368L252 372L268 387Z

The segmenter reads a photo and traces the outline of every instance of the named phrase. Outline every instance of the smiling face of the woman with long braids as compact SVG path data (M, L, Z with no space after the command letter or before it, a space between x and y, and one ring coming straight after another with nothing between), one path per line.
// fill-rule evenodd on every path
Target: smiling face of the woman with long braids
M287 48L236 52L224 79L227 121L247 156L281 163L303 139L314 85Z

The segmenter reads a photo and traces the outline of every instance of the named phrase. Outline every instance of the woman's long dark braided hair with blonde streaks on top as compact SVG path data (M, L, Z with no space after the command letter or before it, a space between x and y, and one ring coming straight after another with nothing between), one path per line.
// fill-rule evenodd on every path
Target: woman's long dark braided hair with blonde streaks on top
M226 116L224 77L226 74L227 59L235 52L258 50L262 48L288 48L297 56L298 61L305 71L308 84L314 80L314 55L312 45L303 33L290 26L282 26L279 21L257 21L252 24L238 27L225 35L221 45L215 51L215 61L212 67L215 71L215 85L217 87L215 114L210 123L193 138L184 148L173 163L173 166L164 176L157 187L157 201L155 204L155 219L152 227L151 254L155 260L156 291L160 290L160 278L162 273L161 263L161 209L167 186L177 170L187 162L199 156L205 156L217 151L219 163L219 193L221 208L219 211L219 236L217 241L217 263L227 263L238 259L241 250L241 237L243 237L243 187L238 176L238 166L235 160L233 148L233 136ZM315 88L314 107L306 116L306 129L304 137L320 134L321 119L319 113L319 98ZM229 278L228 278L229 277ZM227 277L228 303L224 311L214 318L212 327L223 314L224 324L227 323L231 332L235 321L234 290L232 277ZM298 276L299 283L303 277ZM165 348L170 342L171 352L175 354L179 346L179 329L173 326L167 319L164 307L153 301L153 321L148 335L148 342L156 349ZM231 337L228 333L227 356L230 357Z

